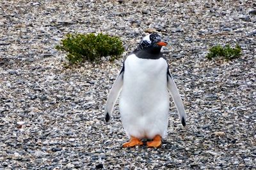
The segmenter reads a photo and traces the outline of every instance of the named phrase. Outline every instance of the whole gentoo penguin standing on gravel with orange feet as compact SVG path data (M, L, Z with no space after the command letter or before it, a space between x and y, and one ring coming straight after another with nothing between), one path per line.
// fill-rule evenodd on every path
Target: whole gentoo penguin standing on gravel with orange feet
M186 113L179 90L169 72L168 62L160 52L167 43L159 34L145 36L138 48L124 61L124 66L109 92L105 108L105 120L109 121L120 94L120 114L124 130L130 141L123 147L143 145L141 139L151 139L148 147L157 148L167 134L169 93L186 125ZM121 93L120 93L121 92Z

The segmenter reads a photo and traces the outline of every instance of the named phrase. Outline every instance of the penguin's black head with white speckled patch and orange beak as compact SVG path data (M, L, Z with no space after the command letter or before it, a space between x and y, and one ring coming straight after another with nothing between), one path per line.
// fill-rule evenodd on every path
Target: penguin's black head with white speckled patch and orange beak
M145 36L136 50L148 50L151 53L160 53L162 46L167 43L161 41L161 37L157 33L148 34Z

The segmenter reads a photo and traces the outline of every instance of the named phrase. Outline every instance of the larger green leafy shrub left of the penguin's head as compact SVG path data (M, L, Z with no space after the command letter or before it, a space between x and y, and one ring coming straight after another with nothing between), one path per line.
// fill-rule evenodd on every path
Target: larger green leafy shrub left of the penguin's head
M101 57L111 56L110 60L117 59L124 52L122 41L118 37L106 34L67 34L67 38L61 39L57 50L68 52L67 59L70 64L76 64L89 60L99 61Z

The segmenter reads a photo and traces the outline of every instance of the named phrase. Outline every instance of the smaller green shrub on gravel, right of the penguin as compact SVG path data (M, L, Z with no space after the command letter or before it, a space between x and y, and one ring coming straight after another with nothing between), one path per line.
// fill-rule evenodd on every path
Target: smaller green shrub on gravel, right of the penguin
M231 48L230 45L216 45L212 46L209 51L210 52L206 55L209 60L217 57L221 57L225 60L232 60L241 56L241 46L239 45L236 45L235 48Z

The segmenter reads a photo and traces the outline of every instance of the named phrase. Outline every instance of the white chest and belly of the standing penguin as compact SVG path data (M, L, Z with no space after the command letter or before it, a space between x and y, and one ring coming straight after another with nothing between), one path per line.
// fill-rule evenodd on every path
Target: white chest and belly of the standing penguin
M166 136L170 103L167 69L163 58L140 59L132 54L125 60L119 108L129 138Z

